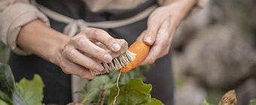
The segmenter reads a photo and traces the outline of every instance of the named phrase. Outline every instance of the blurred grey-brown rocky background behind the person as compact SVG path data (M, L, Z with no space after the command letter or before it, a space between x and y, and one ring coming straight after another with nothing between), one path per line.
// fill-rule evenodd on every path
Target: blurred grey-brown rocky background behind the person
M175 105L218 104L232 89L239 105L256 98L255 37L255 0L212 0L187 17L172 43ZM8 53L0 43L0 62Z

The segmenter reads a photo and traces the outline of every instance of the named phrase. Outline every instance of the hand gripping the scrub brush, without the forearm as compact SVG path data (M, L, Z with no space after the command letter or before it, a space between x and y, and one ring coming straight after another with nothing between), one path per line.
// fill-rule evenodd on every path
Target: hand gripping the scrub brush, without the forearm
M120 50L120 45L114 37L98 28L85 28L71 37L68 43L63 43L56 52L55 64L66 74L92 79L90 71L103 71L100 62L111 62L111 55L96 43L103 43L114 52Z

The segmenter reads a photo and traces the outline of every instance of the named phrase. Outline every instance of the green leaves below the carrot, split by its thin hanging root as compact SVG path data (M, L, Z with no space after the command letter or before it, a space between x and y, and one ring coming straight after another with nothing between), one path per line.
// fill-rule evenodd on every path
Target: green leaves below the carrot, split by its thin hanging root
M143 66L135 68L126 74L120 75L120 95L117 98L116 104L127 104L127 105L162 105L161 101L151 98L151 85L142 82L142 73L147 71L149 66ZM115 95L117 95L116 81L119 72L111 72L97 76L93 80L90 80L84 86L84 90L78 93L84 95L82 104L101 104L103 101L108 101L108 104L112 104ZM139 79L138 79L139 78ZM103 100L102 97L105 97Z

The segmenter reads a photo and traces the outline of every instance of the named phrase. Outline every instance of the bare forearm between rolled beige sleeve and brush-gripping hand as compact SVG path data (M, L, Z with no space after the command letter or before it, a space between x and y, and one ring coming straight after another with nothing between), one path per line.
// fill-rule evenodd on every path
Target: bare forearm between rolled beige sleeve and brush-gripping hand
M17 45L21 49L39 55L50 62L55 60L53 55L58 51L59 46L68 41L68 36L44 25L40 20L23 26L17 37Z

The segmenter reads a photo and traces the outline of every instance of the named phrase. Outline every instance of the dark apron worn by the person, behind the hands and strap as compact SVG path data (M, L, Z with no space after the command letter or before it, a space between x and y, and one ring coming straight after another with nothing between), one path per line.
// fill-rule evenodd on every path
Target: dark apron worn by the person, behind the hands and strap
M81 0L37 0L37 2L67 17L84 19L88 22L122 20L156 4L156 1L149 0L131 10L105 10L92 13ZM50 26L57 31L63 31L66 24L50 19ZM147 19L128 26L104 30L108 31L113 37L124 38L128 43L133 43L136 37L146 29L146 26ZM23 77L32 79L34 74L39 74L42 77L45 85L44 104L68 104L72 102L71 76L63 74L62 70L56 65L36 55L21 56L14 53L11 53L9 64L17 81ZM152 98L157 98L166 105L172 105L174 87L170 53L163 58L159 58L151 66L151 71L145 74L145 77L147 77L146 83L151 83L153 86Z

